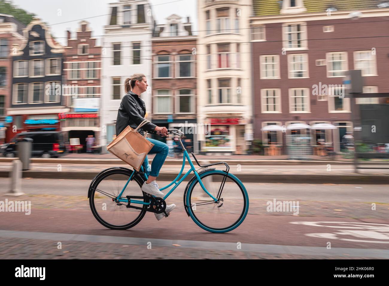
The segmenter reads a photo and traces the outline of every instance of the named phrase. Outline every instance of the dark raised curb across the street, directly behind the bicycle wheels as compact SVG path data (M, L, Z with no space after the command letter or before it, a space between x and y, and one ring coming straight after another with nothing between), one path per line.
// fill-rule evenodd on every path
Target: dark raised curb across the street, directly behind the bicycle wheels
M0 171L0 177L10 176L9 171ZM42 172L23 171L23 178L41 179L84 179L92 180L98 172ZM304 174L235 174L242 182L246 183L308 183L308 184L364 184L364 185L386 185L389 184L388 175L370 174L346 174L346 175L304 175ZM177 173L161 173L158 177L162 181L173 181ZM191 175L184 181L189 181ZM312 188L314 191L314 188Z

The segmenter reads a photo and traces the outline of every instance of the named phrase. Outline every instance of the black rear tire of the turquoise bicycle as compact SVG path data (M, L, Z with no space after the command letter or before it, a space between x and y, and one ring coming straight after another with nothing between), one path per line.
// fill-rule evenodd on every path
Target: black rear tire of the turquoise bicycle
M128 178L130 178L132 172L134 172L134 171L130 170L130 169L124 169L124 168L111 169L111 170L106 171L106 172L103 171L102 173L100 173L95 178L95 183L91 186L92 187L92 192L91 192L91 195L89 196L89 206L90 206L91 211L93 213L93 216L95 216L96 220L99 223L101 223L103 226L107 227L107 228L115 229L115 230L124 230L124 229L128 229L128 228L134 227L135 225L137 225L142 220L142 218L144 217L144 215L146 213L145 209L147 209L147 205L143 205L143 207L142 207L143 210L140 211L139 215L135 218L135 220L132 220L130 223L127 223L127 224L124 224L124 225L114 225L112 223L109 223L109 222L105 221L99 215L99 213L98 213L98 211L96 209L94 198L95 198L96 189L98 189L98 185L105 178L107 178L109 176L112 176L112 175L124 175L124 176L128 176ZM134 176L133 177L133 181L137 182L137 184L139 185L139 188L142 187L143 180L140 177ZM145 193L143 191L140 190L140 192L142 192L143 196L145 196ZM144 199L144 202L147 202L147 199ZM126 208L125 205L123 207ZM126 211L127 210L129 210L129 209L126 208Z

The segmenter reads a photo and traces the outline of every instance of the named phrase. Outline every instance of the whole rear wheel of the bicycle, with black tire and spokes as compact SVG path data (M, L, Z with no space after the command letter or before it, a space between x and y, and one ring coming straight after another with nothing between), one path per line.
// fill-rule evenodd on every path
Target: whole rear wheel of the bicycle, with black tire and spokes
M89 196L89 205L96 220L105 227L111 229L128 229L134 227L144 217L147 205L132 204L142 207L142 209L126 208L126 203L116 203L113 198L116 198L121 190L125 187L128 179L131 176L129 169L118 168L100 174L92 185L92 192ZM126 199L127 195L145 196L140 189L142 182L134 178L131 180L123 194L122 199ZM147 199L137 199L138 201L148 202Z

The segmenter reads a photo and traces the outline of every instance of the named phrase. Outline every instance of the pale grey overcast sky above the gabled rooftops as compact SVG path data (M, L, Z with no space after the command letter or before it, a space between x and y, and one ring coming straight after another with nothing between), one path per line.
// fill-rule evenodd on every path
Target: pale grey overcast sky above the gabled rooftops
M110 9L108 3L119 2L116 0L12 0L13 3L27 12L34 13L50 25L53 35L58 42L66 44L66 30L75 31L81 19L90 23L92 36L98 38L98 45L101 45L100 38L103 35L103 26L108 24ZM174 2L173 2L174 1ZM181 17L190 16L193 23L192 30L197 30L197 7L196 0L149 0L152 13L157 24L165 23L165 18L171 14ZM172 2L172 3L168 3ZM61 16L58 16L58 9L61 9ZM100 16L103 15L103 16ZM99 16L99 17L96 17ZM67 22L67 23L63 23ZM195 32L195 34L197 34Z

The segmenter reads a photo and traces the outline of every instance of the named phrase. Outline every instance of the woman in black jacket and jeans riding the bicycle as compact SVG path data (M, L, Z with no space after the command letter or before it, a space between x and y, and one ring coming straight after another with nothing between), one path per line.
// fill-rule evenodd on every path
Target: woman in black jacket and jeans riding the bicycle
M132 129L138 127L138 125L145 120L144 116L146 113L146 105L144 101L140 98L140 94L146 91L147 89L147 80L143 73L135 73L131 78L127 78L124 81L124 91L126 94L123 96L123 99L120 103L119 110L117 112L116 119L116 136L119 135L124 128L130 126ZM143 130L146 130L152 134L159 134L161 136L168 137L168 131L166 127L159 127L151 122L142 126L138 129L138 132L144 135ZM142 185L142 191L154 195L156 197L164 197L165 195L159 190L159 186L156 182L156 179L159 174L163 163L169 152L169 147L165 143L154 140L151 138L146 138L154 146L151 148L149 154L156 154L151 163L151 168L149 166L149 160L147 156L144 160L145 163L145 173L147 174L147 181ZM171 212L175 208L175 204L166 206L166 213ZM165 215L163 213L155 214L157 220L161 220Z

